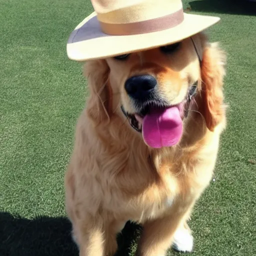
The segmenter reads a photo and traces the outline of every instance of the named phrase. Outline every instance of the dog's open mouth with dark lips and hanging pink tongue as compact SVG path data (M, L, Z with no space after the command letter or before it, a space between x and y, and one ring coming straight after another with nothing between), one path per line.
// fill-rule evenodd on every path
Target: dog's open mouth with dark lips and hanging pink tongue
M196 91L196 84L189 87L186 98L176 105L164 105L157 101L149 101L136 113L122 112L130 125L142 132L144 142L153 148L173 146L181 138L182 120L187 115L190 101Z

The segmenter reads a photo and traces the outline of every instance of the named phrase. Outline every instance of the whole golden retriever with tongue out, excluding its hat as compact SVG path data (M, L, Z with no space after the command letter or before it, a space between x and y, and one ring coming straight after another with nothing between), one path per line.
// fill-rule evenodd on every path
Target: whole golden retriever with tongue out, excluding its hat
M89 97L65 174L80 256L113 255L128 220L143 227L136 255L192 250L187 220L225 128L224 64L203 33L86 62Z

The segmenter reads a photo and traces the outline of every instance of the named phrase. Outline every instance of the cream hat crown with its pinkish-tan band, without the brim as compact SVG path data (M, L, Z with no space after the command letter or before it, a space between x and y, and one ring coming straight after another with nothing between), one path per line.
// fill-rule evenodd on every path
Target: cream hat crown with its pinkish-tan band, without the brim
M91 0L91 3L106 34L153 32L183 21L181 0Z

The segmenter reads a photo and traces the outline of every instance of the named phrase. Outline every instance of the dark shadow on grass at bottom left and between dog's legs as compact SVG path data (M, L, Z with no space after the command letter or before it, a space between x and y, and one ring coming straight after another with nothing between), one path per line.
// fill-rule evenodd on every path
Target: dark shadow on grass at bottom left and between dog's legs
M39 216L26 219L0 212L1 256L75 256L76 245L71 236L71 224L64 217ZM138 225L127 222L118 235L116 256L128 256L132 242L140 231Z

